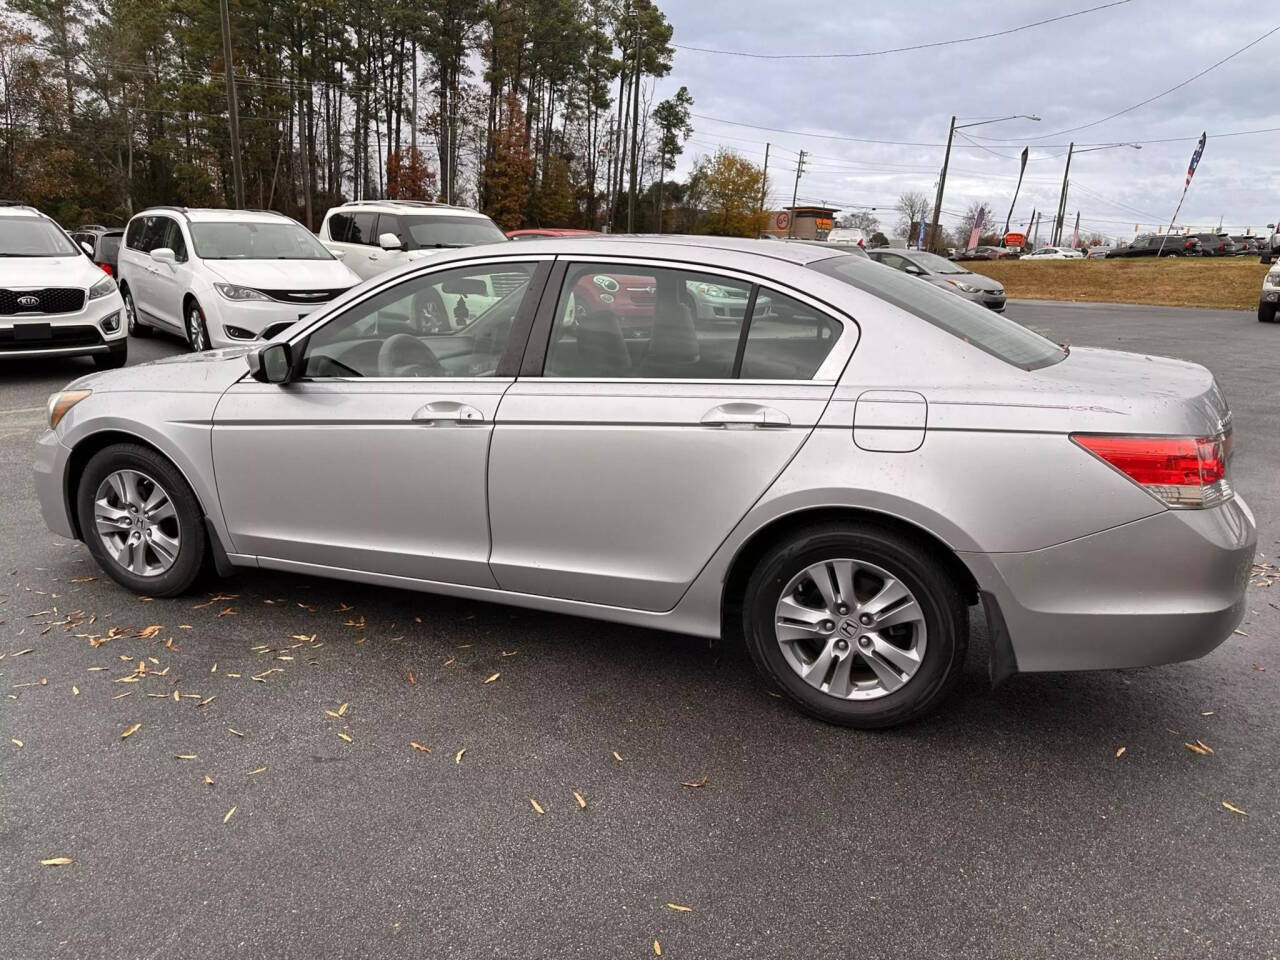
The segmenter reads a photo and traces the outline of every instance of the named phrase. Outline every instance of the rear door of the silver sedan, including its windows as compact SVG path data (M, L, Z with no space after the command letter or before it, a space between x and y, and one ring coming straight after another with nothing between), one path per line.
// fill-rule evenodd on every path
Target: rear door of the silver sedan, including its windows
M618 278L652 288L646 311L609 300ZM699 287L745 297L749 319L695 323ZM813 430L854 339L851 321L749 275L558 265L493 435L498 584L672 608Z

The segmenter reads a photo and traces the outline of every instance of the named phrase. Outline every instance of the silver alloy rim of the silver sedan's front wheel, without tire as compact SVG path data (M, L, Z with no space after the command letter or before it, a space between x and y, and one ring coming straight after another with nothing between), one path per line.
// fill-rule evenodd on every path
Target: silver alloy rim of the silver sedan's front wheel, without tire
M173 500L138 470L116 470L99 484L93 522L106 552L136 576L160 576L178 559L182 530Z

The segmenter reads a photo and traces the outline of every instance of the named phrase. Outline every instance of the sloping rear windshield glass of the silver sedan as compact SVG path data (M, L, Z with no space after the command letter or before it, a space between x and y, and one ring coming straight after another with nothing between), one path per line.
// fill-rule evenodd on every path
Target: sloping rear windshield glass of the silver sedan
M891 266L851 256L819 260L809 266L1024 370L1050 366L1066 357L1065 349L1021 324Z

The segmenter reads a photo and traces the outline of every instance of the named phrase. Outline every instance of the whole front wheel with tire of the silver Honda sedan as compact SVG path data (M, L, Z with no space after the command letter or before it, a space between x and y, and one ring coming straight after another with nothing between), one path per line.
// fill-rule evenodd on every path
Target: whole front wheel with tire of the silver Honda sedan
M81 534L116 582L175 596L204 566L204 512L182 474L155 451L120 443L93 454L76 494Z

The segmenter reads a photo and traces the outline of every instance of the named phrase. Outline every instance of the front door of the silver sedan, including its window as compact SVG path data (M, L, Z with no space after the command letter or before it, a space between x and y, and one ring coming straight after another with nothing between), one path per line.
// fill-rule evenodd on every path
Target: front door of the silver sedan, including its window
M549 271L549 257L506 257L376 287L293 335L291 383L227 390L212 452L232 549L284 570L495 586L489 442ZM429 333L443 287L495 274L507 297Z

